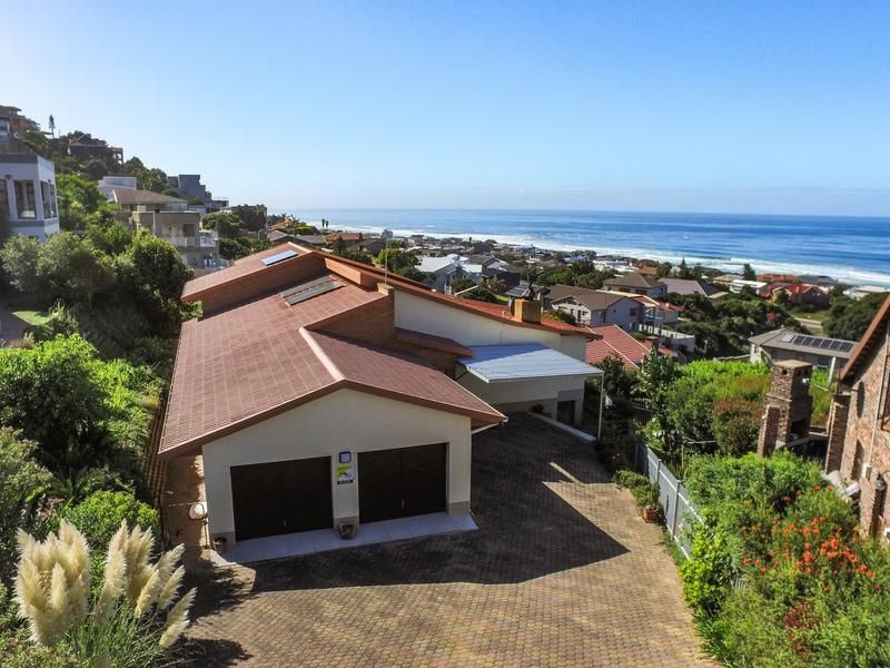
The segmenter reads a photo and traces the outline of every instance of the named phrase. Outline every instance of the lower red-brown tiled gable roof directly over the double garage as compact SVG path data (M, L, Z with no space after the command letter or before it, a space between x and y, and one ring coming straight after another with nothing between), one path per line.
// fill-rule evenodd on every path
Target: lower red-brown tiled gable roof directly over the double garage
M308 328L387 295L328 274L340 287L288 305L279 293L182 325L159 453L190 451L344 387L468 415L503 415L417 357Z

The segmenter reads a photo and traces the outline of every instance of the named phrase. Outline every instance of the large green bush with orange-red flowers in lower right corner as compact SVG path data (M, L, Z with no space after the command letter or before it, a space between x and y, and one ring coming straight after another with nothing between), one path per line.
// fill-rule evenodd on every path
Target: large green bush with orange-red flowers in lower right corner
M705 648L738 666L886 666L890 557L792 454L700 458L681 566Z

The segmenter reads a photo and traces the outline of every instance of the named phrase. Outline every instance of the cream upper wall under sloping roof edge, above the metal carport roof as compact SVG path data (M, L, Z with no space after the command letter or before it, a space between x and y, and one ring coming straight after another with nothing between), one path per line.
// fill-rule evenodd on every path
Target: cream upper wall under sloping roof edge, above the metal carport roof
M562 336L556 332L523 327L508 321L498 322L399 289L396 289L395 321L397 327L445 336L466 346L541 343L576 360L584 361L586 357L586 337L583 335Z

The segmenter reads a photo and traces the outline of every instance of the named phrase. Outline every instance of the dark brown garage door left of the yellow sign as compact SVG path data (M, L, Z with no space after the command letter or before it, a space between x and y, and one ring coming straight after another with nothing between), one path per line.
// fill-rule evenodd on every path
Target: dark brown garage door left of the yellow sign
M236 540L333 527L329 456L230 471Z

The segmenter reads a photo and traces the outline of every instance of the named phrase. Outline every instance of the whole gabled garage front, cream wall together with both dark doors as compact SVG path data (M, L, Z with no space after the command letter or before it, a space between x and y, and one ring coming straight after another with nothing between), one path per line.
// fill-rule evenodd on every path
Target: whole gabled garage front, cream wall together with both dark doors
M472 419L352 389L201 448L210 541L469 512Z

